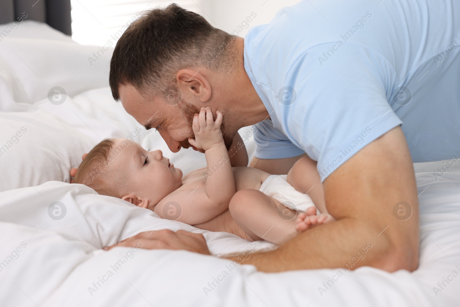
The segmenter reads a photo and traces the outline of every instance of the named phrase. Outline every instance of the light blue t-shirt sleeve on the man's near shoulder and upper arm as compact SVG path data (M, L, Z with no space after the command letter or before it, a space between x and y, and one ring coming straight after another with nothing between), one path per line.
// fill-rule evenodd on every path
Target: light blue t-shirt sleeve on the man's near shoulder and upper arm
M389 84L395 81L389 79L396 78L388 61L352 42L335 46L336 52L329 52L326 59L323 51L329 45L334 44L311 48L297 59L284 81L276 80L280 89L292 87L295 101L282 103L276 91L270 99L279 97L272 105L282 131L317 161L322 181L363 147L402 124L387 100Z

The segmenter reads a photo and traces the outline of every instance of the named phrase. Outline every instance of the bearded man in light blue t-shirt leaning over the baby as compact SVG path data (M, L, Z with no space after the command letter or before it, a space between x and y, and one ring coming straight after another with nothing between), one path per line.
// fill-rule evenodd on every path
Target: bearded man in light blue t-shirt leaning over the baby
M428 2L301 1L245 39L176 5L151 10L118 41L110 87L173 152L190 147L193 114L210 106L224 115L229 150L239 128L255 125L251 166L287 174L299 158L316 165L336 221L243 264L414 271L412 162L460 154L460 6ZM200 235L148 234L118 245L209 254Z

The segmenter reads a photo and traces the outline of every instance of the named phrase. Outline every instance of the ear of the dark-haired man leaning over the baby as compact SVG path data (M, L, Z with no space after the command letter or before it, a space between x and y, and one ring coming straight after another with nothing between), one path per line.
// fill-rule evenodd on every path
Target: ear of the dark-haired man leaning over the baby
M178 88L187 95L195 95L200 102L206 102L211 98L211 85L200 70L183 69L176 74Z

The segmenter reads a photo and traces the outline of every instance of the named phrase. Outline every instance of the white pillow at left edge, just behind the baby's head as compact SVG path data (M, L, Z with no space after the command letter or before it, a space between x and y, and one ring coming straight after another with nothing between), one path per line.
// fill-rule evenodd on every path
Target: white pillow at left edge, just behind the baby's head
M46 111L0 112L0 191L70 182L69 170L94 145Z

